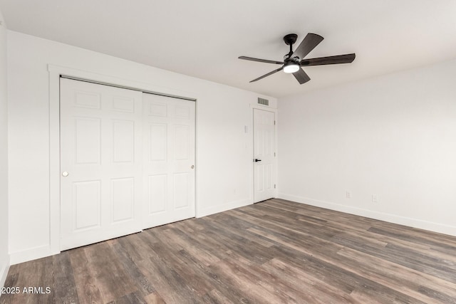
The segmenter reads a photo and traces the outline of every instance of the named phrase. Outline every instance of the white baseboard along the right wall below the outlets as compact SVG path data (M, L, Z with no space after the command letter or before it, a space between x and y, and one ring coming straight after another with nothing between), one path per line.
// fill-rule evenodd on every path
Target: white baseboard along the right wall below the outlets
M370 219L378 219L380 221L388 221L393 224L400 224L404 226L410 226L418 229L425 229L428 231L438 232L440 234L448 234L450 236L456 236L456 226L450 226L445 224L439 224L432 221L423 221L421 219L412 219L405 216L398 216L395 214L388 214L379 211L372 211L368 209L357 208L353 206L346 206L336 204L330 201L319 201L317 199L309 199L308 197L295 196L291 194L279 193L279 199L286 199L289 201L296 201L302 204L308 204L311 206L317 206L325 209L331 209L335 211L341 211L348 214L354 214L358 216L368 217Z

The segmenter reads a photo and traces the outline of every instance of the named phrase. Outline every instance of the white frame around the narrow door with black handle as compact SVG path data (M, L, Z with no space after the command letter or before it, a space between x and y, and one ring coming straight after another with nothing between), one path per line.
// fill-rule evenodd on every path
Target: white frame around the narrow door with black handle
M277 127L279 126L279 117L277 115L277 109L276 108L271 108L271 107L268 107L266 105L260 105L260 104L257 104L257 103L254 103L254 104L250 104L250 108L252 108L252 111L251 111L251 117L252 117L252 121L251 121L251 126L252 126L252 135L250 137L250 142L252 143L252 157L250 159L250 180L252 182L252 187L251 187L251 191L250 191L250 197L252 197L252 204L255 204L255 179L254 179L254 176L255 176L255 172L254 172L254 164L253 164L253 159L254 159L254 109L257 109L257 110L264 110L264 111L269 111L269 112L274 112L274 117L275 117L275 120L276 120L276 124L274 125L274 140L276 142L276 157L274 159L274 167L275 167L275 174L274 174L274 184L276 184L276 189L274 190L274 198L277 197L277 193L279 193L279 179L277 178L278 175L279 175L279 170L278 170L278 165L277 165L277 159L279 159L279 149L278 149L278 145L277 145L277 139L279 138L277 136Z

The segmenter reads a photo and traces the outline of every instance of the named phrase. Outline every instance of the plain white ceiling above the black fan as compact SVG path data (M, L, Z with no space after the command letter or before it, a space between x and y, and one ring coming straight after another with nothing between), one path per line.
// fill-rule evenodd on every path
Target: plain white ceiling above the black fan
M33 36L257 93L282 97L456 58L455 0L0 0L6 26ZM325 39L306 58L356 53L351 64L276 73L282 37ZM297 46L297 44L296 44Z

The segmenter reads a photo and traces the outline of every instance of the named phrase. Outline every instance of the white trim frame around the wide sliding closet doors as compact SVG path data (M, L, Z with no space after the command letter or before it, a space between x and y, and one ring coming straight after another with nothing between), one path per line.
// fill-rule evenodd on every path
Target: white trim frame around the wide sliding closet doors
M78 78L93 83L114 85L132 90L142 90L157 95L168 95L170 97L187 100L195 100L195 166L198 162L197 151L197 110L198 96L192 92L183 92L185 95L194 96L192 98L182 96L182 90L160 87L150 83L141 83L136 80L117 78L111 75L103 75L75 68L66 68L59 65L48 64L49 74L49 253L50 255L60 253L61 235L61 209L60 209L60 78ZM197 178L195 171L195 212L197 213Z

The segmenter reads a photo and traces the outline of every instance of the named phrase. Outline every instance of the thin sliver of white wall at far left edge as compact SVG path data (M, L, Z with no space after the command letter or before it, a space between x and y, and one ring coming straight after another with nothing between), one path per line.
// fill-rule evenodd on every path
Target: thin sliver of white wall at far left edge
M8 107L6 101L6 26L0 11L0 288L9 268L8 254Z

